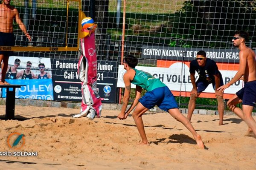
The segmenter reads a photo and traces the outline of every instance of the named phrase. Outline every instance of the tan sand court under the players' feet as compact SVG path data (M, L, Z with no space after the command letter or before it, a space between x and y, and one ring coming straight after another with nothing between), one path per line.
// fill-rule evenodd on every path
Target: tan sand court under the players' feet
M218 115L193 115L192 125L207 148L200 150L191 133L169 113L143 115L148 147L137 146L140 135L133 118L116 119L119 111L103 109L101 118L88 120L71 117L80 109L17 105L18 120L5 121L5 106L0 108L0 152L38 153L0 156L3 169L256 169L256 139L244 136L247 125L235 115L224 115L222 126ZM24 134L20 150L7 144L14 132Z

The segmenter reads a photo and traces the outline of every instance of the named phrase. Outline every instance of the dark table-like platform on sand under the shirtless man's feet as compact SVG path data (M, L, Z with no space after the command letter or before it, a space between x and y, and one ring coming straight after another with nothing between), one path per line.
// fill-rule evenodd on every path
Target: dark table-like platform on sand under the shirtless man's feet
M14 119L15 113L15 90L26 85L0 85L0 88L6 88L6 120Z

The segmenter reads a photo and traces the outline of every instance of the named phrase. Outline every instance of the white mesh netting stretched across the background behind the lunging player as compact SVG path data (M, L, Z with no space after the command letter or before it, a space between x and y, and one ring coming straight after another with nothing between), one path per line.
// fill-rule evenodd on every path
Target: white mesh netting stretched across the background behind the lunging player
M38 57L39 62L45 58L63 59L64 63L78 60L81 8L98 25L98 80L113 79L117 87L123 85L122 80L121 84L117 81L123 74L118 71L127 54L136 56L141 69L163 80L176 96L188 96L189 62L197 51L206 51L207 57L217 62L226 83L239 64L238 50L231 41L234 32L248 31L247 45L256 47L256 1L24 0L12 5L32 36L29 42L14 25L15 56ZM63 66L55 66L52 75L74 77L76 68L66 73ZM227 93L242 85L239 81ZM212 88L207 91L212 92Z

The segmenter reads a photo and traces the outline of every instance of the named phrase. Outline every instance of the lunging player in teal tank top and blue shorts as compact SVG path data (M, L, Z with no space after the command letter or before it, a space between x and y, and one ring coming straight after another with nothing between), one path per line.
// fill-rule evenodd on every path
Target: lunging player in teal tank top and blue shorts
M125 93L123 97L122 111L117 117L121 120L126 119L129 113L136 107L132 116L142 139L140 144L149 145L144 130L142 115L148 111L148 109L157 105L160 109L169 112L169 114L177 121L183 123L183 125L185 125L192 133L198 147L204 148L201 136L196 133L189 120L180 113L175 98L169 88L151 74L137 70L135 68L137 64L138 59L131 55L125 57L123 61L124 69L127 71L123 78L125 83ZM126 111L130 99L131 83L136 85L136 96L131 107ZM147 92L140 98L142 89L145 89Z

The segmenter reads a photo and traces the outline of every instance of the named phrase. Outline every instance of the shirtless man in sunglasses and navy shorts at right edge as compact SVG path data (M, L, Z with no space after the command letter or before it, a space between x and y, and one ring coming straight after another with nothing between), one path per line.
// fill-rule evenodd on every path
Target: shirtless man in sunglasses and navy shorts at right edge
M246 31L235 32L232 42L233 45L240 50L239 70L230 82L219 87L217 90L223 92L243 76L244 88L231 97L227 105L231 111L236 113L248 125L248 130L245 135L255 137L256 122L252 117L252 111L256 103L256 56L254 51L245 45L245 42L248 40L249 35ZM236 107L240 102L242 102L242 110Z

